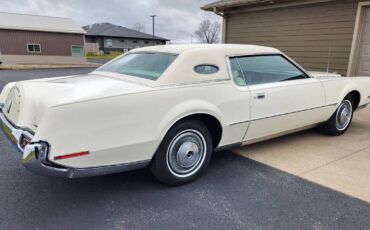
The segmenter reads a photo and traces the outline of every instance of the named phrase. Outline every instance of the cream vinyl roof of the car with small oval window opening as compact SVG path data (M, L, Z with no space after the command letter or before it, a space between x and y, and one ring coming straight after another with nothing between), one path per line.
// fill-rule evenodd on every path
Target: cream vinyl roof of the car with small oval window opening
M192 82L214 82L215 80L223 81L225 79L230 79L227 57L259 54L281 54L281 52L277 49L264 46L233 44L193 44L138 48L131 50L126 55L129 55L130 53L140 52L171 53L178 54L178 56L161 75L161 77L156 81L132 77L119 73L111 73L109 71L105 72L103 68L97 69L95 73L113 78L123 79L129 82L144 84L150 87L188 84ZM194 68L199 65L215 65L219 68L219 71L214 74L197 74L194 71Z

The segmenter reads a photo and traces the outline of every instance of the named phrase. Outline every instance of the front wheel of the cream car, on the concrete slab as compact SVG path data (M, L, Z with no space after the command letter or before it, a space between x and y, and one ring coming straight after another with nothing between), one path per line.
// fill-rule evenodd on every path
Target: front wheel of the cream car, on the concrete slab
M344 134L351 125L354 103L351 96L347 96L338 106L333 116L323 125L323 130L331 136Z

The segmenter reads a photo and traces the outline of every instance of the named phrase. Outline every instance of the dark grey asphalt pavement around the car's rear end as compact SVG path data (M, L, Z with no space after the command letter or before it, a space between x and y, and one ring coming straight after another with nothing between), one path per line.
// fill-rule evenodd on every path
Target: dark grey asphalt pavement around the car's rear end
M89 69L0 71L7 81ZM29 173L0 133L0 229L368 229L370 204L230 152L196 182L147 169L68 180Z

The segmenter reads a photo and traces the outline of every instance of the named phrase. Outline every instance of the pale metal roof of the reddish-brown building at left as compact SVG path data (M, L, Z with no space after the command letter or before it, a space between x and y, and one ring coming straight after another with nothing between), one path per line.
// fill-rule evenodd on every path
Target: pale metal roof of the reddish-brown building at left
M71 18L0 12L0 29L85 34Z

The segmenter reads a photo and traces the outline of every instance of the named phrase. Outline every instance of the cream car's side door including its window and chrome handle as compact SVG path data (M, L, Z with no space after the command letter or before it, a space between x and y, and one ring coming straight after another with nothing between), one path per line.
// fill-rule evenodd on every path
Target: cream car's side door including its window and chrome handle
M323 119L325 92L287 57L257 55L237 57L251 92L251 121L244 142L319 123Z

